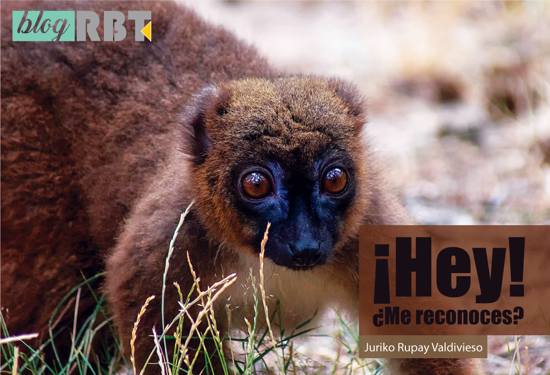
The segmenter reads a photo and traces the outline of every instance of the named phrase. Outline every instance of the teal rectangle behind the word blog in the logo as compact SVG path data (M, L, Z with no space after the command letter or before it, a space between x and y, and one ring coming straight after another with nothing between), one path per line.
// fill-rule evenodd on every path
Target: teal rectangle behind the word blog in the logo
M13 41L32 41L41 42L57 40L60 30L63 30L63 35L59 37L59 41L74 42L74 11L72 10L45 10L42 12L42 18L38 20L40 15L39 10L29 10L26 19L21 25L21 30L18 32L21 19L25 14L24 10L14 10L12 12L12 40ZM57 25L54 25L58 21ZM63 28L64 20L67 20L65 28ZM30 23L30 27L29 27ZM55 30L54 30L55 29ZM27 31L28 32L24 32ZM46 32L43 32L46 31Z

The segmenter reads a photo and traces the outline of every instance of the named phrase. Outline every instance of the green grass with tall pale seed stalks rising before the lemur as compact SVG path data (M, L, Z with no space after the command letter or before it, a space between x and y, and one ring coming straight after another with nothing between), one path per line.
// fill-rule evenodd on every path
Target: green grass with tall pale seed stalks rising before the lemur
M249 281L251 282L254 296L254 317L249 321L245 319L248 325L248 332L244 333L243 337L222 337L217 329L215 311L213 303L223 295L224 290L237 279L234 274L216 282L213 285L206 287L201 286L199 278L197 278L193 265L189 261L189 269L193 275L195 284L191 290L184 292L180 290L177 283L167 285L166 275L169 268L169 261L174 252L174 241L178 235L179 229L182 227L185 216L189 209L180 217L180 222L177 229L174 231L174 236L169 246L168 256L166 258L166 267L164 269L163 285L159 290L162 298L161 306L164 306L164 294L167 287L175 287L179 293L180 312L171 320L165 321L164 309L162 308L162 322L164 329L162 332L151 331L151 340L155 343L155 349L151 351L149 360L147 360L144 368L148 366L156 366L157 370L163 375L178 375L188 373L203 373L212 374L215 363L213 361L221 361L224 374L260 374L260 373L319 373L319 374L352 374L362 373L376 374L379 373L381 363L377 361L367 362L356 358L358 346L358 332L356 328L350 327L340 317L341 329L337 332L335 339L338 341L338 346L342 348L342 352L349 357L350 360L342 363L339 358L329 366L311 366L304 368L304 356L296 352L295 340L298 338L306 338L316 331L316 327L310 327L315 316L307 319L305 322L296 325L290 331L285 331L282 322L281 306L276 303L273 311L268 311L266 303L266 294L263 289L263 254L264 247L267 241L267 233L261 244L260 253L260 280L257 282L250 274ZM113 327L112 318L109 317L106 311L105 296L97 296L90 283L102 278L103 274L97 274L90 279L81 282L80 285L74 287L72 291L66 295L59 303L56 310L53 312L48 325L48 338L37 348L33 348L26 344L25 340L12 340L6 328L4 317L0 315L0 325L2 329L2 345L1 356L2 365L0 365L1 373L25 373L33 375L52 374L80 374L80 375L101 375L113 374L120 369L127 367L133 368L136 374L141 374L144 369L136 368L134 358L130 358L128 363L122 355L121 345L117 339L116 328ZM83 293L91 293L96 300L94 311L89 317L79 319L79 302ZM151 296L144 301L139 315L134 323L134 330L130 344L132 354L136 340L136 331L139 327L140 318L145 312L149 302L156 298ZM58 347L56 338L61 333L62 329L57 327L57 323L61 316L70 313L69 308L74 303L73 325L70 327L71 346ZM197 316L190 316L189 309L193 306L199 306L200 312ZM259 319L262 314L259 309L263 308L266 317L265 322ZM227 308L227 318L231 322L231 310ZM199 324L205 327L205 331L199 331ZM186 330L186 327L189 330ZM276 329L273 330L272 327ZM199 339L202 350L190 350L189 343L191 339ZM205 343L207 340L213 340L215 344L215 352L208 352ZM167 358L168 348L173 349L173 356ZM49 349L53 352L53 356L45 357L43 352ZM65 351L69 350L68 357ZM230 353L227 357L223 353ZM204 356L205 368L196 368L199 356ZM53 358L52 358L53 357ZM67 358L63 360L62 358ZM305 358L307 362L307 359Z

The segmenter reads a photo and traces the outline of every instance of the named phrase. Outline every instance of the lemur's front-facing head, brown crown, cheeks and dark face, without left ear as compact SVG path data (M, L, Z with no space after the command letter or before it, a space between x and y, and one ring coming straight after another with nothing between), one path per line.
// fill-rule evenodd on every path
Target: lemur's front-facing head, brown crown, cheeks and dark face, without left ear
M361 98L319 78L232 81L207 95L194 126L202 221L255 252L271 222L274 263L329 262L365 204Z

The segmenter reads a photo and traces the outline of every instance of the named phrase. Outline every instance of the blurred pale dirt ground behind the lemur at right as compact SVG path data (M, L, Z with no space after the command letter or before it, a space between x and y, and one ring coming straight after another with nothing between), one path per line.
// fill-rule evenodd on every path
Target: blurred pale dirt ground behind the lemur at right
M420 223L550 224L550 2L188 4L274 66L359 85L372 142ZM510 345L489 339L490 373L518 373ZM525 345L529 374L549 374L548 336Z

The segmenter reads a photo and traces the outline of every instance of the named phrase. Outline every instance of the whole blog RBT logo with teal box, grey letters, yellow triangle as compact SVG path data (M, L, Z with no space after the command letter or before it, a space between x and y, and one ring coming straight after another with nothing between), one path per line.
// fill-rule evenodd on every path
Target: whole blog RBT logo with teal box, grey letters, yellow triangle
M150 10L129 10L128 19L134 21L136 42L144 41L145 37L151 41L151 21L145 25L145 21L151 19ZM124 13L118 10L103 12L103 41L123 40L126 37L125 20ZM101 41L96 30L99 24L99 15L90 10L14 10L12 40L80 42L85 41L87 35L98 42Z

